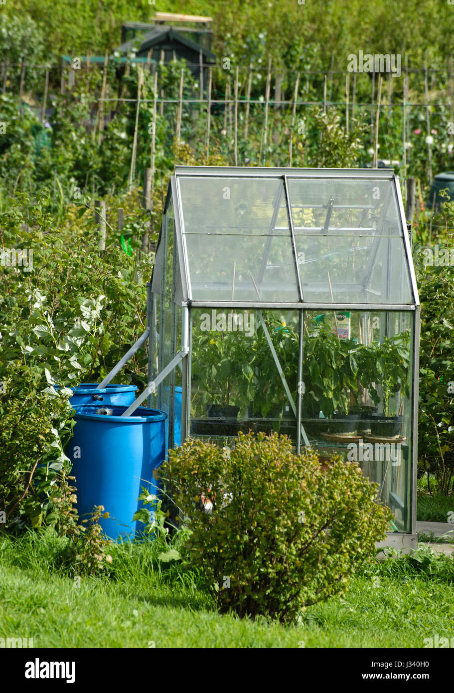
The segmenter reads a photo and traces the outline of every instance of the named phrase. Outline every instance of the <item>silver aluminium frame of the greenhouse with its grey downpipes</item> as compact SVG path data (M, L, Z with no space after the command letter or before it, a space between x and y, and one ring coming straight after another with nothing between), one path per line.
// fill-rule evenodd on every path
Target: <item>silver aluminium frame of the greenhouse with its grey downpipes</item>
M265 301L259 299L259 291L256 288L257 297L252 300L237 300L232 299L207 299L200 298L193 295L193 290L191 286L191 267L189 263L188 251L186 248L186 238L185 238L185 227L184 227L184 203L182 201L182 182L185 179L228 179L229 177L235 179L281 179L283 182L283 191L285 194L285 204L288 212L288 229L290 231L291 247L293 252L293 262L295 264L295 274L297 277L297 301ZM406 267L409 274L410 280L410 290L412 294L412 299L406 303L367 303L367 302L356 302L349 303L348 301L335 302L335 301L311 301L306 300L304 297L304 290L302 287L302 279L299 271L299 262L297 259L297 243L295 236L295 225L293 222L292 205L290 202L289 195L289 183L295 179L311 179L317 181L317 179L328 179L330 181L338 179L339 181L389 181L392 186L392 191L395 195L395 200L397 203L397 214L399 220L399 226L401 230L401 237L403 238L403 247L405 252ZM332 199L332 198L331 198ZM215 204L214 200L204 200L204 204ZM408 234L407 222L405 220L405 212L403 208L403 201L401 198L401 190L399 186L399 179L394 175L392 169L317 169L317 168L250 168L250 167L218 167L218 166L177 166L175 168L175 175L171 177L171 182L168 186L168 193L166 197L166 203L164 206L163 222L161 226L161 234L159 236L159 241L161 238L167 238L166 233L168 231L168 209L169 206L173 205L173 234L176 243L173 243L173 289L172 289L172 326L171 326L171 358L164 364L164 362L159 363L159 369L157 368L157 350L162 349L162 340L164 339L164 311L161 310L159 313L157 308L157 297L159 293L161 298L164 297L164 292L166 290L166 277L164 276L164 265L161 272L161 277L155 276L155 271L159 272L159 268L153 270L152 282L148 283L148 306L147 306L147 330L140 339L134 344L134 347L130 349L128 354L119 362L119 364L111 371L109 376L103 380L100 387L104 387L109 380L111 380L114 375L119 371L119 369L124 365L124 363L132 356L132 353L143 344L143 342L149 338L149 360L148 360L148 387L145 391L137 398L137 400L128 408L125 412L125 416L132 414L134 409L148 398L148 405L150 406L150 398L154 394L157 394L157 406L161 407L163 403L163 383L164 379L171 377L171 384L175 386L175 368L180 367L182 369L182 421L181 421L181 439L182 441L189 435L190 425L191 425L191 344L193 336L193 324L192 315L193 311L198 308L219 308L219 309L236 309L245 308L251 310L259 311L258 315L260 317L260 311L270 310L272 308L285 309L285 310L297 310L299 311L299 358L298 358L298 380L303 380L304 377L304 358L303 358L303 324L304 324L304 313L306 310L349 310L349 311L383 311L385 313L410 313L414 317L414 329L412 331L412 394L411 394L411 421L412 421L412 436L411 436L411 453L410 459L408 460L411 465L411 492L410 492L410 532L394 532L389 534L387 541L383 542L383 545L392 545L397 548L408 549L410 547L417 546L417 535L416 535L416 489L417 489L417 402L418 402L418 372L419 372L419 322L420 322L420 306L419 297L417 292L416 277L414 274L414 267L412 264L412 254L410 237ZM327 205L318 205L319 207L330 207ZM315 205L313 205L315 207ZM348 206L347 206L348 207ZM332 208L332 204L331 204ZM329 218L331 210L328 209L326 214L326 231L320 229L323 234L329 229ZM276 222L277 211L273 217L272 224ZM318 228L318 227L317 227ZM361 227L362 228L362 227ZM344 230L344 229L341 229ZM348 230L348 229L347 229ZM367 230L367 229L365 229ZM272 231L270 232L270 237L272 236ZM374 250L376 253L376 247L379 243L380 236L378 236L376 242L374 241ZM388 244L388 255L390 254L390 245ZM158 258L159 243L157 248ZM166 251L165 251L166 252ZM268 251L267 251L268 252ZM166 256L167 257L167 256ZM390 259L390 258L389 258ZM267 257L263 258L263 266L267 262ZM373 258L369 263L369 272L372 272ZM177 266L177 270L175 267ZM159 293L156 290L156 283L159 279ZM389 270L387 281L390 281ZM152 290L153 282L155 282L155 292ZM177 286L176 286L177 285ZM363 284L364 288L365 284ZM358 291L358 284L351 283L345 285L345 290L350 290L351 292ZM176 298L175 289L177 290L178 297ZM160 304L160 306L162 303ZM386 318L389 319L388 317ZM263 321L262 321L263 322ZM159 324L159 327L156 326ZM177 333L181 332L180 349L177 349ZM160 349L159 349L159 340ZM269 344L270 344L270 340ZM272 349L272 345L270 344ZM275 356L275 354L273 355ZM276 360L276 359L275 359ZM277 362L277 360L276 360ZM277 362L277 365L278 362ZM159 371L159 372L158 372ZM173 376L172 376L173 374ZM283 380L284 387L286 383ZM168 399L168 447L173 447L173 426L174 426L174 407L175 407L175 387L168 388L170 396ZM287 390L286 390L287 392ZM304 432L304 426L302 426L302 398L297 397L296 403L296 452L299 453L301 446L308 444L306 434Z

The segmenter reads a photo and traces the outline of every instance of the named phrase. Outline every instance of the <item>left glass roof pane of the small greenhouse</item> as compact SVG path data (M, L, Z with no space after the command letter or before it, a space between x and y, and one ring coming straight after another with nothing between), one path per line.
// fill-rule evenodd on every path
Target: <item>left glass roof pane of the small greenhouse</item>
M283 182L180 179L193 298L298 301Z

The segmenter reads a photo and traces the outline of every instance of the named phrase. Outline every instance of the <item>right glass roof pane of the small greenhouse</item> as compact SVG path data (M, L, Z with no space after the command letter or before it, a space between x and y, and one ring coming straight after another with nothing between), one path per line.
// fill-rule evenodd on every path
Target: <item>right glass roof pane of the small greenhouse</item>
M392 181L289 179L288 190L306 301L412 303Z

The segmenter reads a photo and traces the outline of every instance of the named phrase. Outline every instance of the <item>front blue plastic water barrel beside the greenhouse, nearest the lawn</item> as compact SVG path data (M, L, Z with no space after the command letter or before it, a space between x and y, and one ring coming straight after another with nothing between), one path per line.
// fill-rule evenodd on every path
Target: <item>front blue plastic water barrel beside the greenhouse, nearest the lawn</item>
M103 405L103 403L102 403ZM122 417L128 407L110 405L112 415L96 414L100 405L76 407L73 438L66 454L76 477L77 509L81 519L96 505L110 514L101 518L103 532L112 539L134 537L143 530L132 522L141 507L141 486L156 493L153 470L166 455L166 412L137 407L134 416Z

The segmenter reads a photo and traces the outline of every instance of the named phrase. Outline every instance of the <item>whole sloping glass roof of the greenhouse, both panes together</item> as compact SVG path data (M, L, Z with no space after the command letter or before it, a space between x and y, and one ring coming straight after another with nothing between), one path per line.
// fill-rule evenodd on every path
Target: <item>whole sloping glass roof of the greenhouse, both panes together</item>
M177 166L172 191L190 301L418 302L392 170Z

